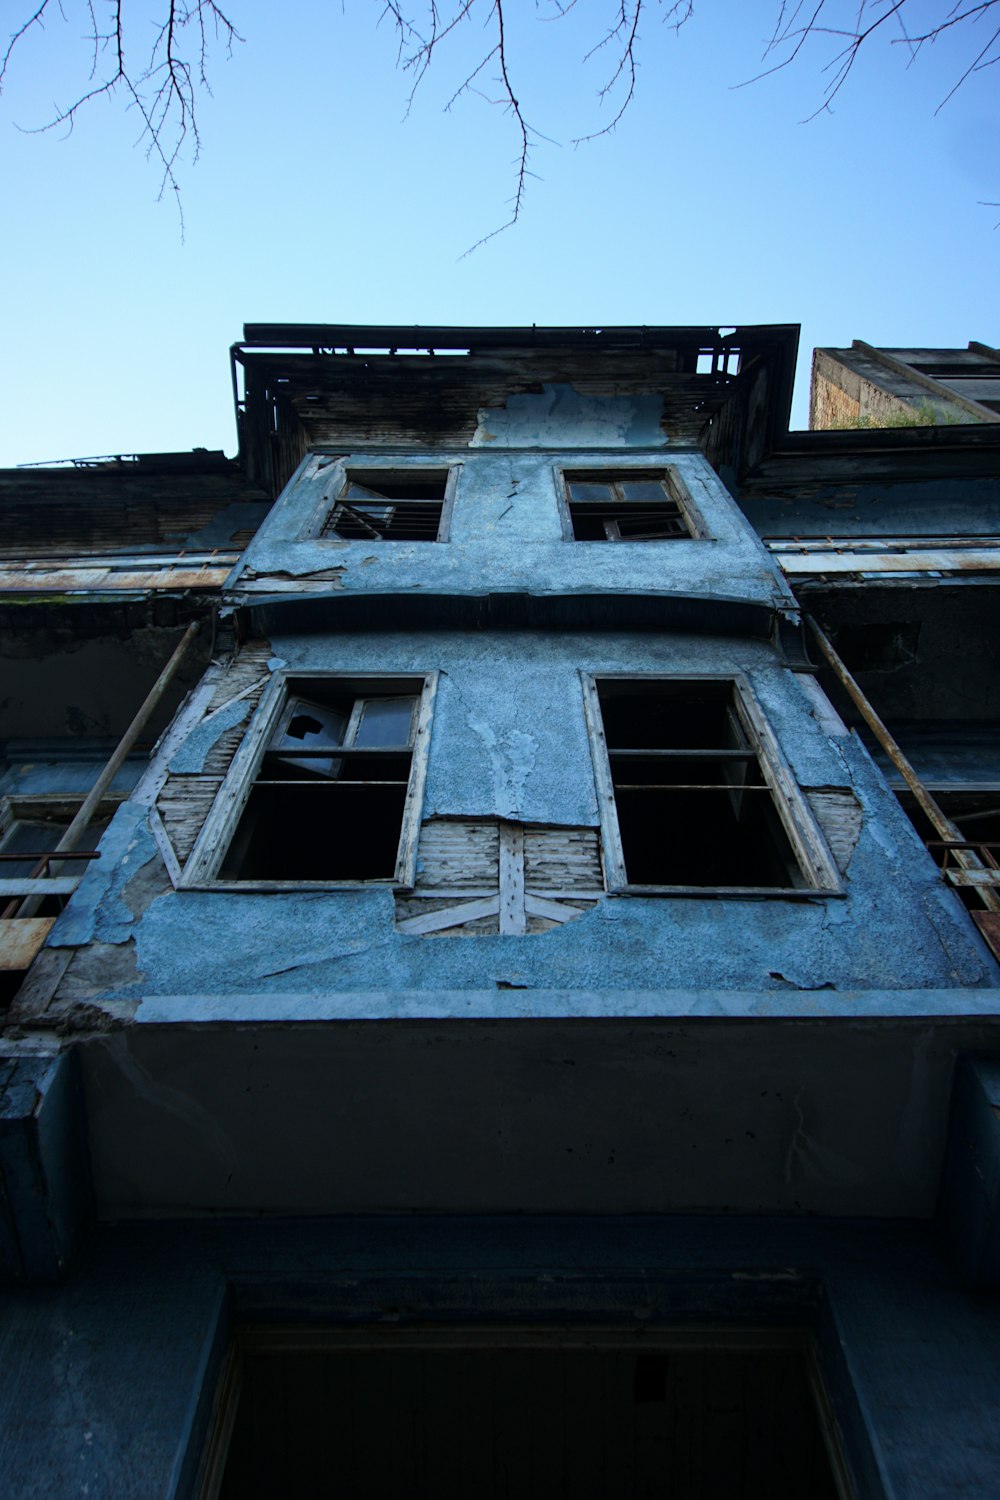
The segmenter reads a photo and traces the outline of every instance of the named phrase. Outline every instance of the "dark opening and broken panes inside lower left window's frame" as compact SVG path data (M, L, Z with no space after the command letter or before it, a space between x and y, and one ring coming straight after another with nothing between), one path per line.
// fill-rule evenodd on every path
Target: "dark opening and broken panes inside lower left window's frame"
M220 878L391 880L421 687L292 682Z

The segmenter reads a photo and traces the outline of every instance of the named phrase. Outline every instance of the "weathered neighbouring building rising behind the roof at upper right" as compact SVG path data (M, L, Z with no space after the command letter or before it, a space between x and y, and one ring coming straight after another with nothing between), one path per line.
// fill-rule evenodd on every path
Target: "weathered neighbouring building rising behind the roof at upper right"
M1000 420L1000 350L816 350L810 428Z

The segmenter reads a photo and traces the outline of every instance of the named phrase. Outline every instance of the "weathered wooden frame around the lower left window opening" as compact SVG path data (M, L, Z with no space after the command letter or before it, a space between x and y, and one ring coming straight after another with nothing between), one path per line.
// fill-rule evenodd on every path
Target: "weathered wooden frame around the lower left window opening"
M240 818L250 792L256 784L264 756L282 720L288 700L306 696L307 684L334 682L345 693L357 698L391 698L412 693L417 698L412 729L409 780L400 820L396 868L391 876L379 879L336 880L241 880L222 878L222 868L235 836ZM232 758L229 771L219 788L208 818L195 840L190 858L184 866L181 888L211 891L301 891L301 890L412 890L417 878L417 840L420 834L420 810L427 780L427 756L430 748L430 720L438 687L438 672L276 672L264 690L261 702L250 720L240 748ZM336 754L334 754L336 758Z

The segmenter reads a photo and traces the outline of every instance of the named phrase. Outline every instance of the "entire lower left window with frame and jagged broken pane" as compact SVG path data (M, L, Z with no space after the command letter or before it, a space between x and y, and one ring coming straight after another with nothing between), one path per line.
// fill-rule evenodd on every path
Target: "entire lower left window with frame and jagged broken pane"
M424 678L289 678L234 759L190 882L406 884L427 716Z

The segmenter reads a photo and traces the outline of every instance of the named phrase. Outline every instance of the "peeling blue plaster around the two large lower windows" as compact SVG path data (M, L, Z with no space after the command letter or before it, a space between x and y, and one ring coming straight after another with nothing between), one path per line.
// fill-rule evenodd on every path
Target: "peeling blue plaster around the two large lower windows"
M997 966L945 888L855 736L832 736L799 680L762 642L667 634L430 633L298 636L273 642L295 674L439 670L423 816L595 825L598 801L580 672L745 672L804 786L852 788L861 837L843 897L610 897L526 938L429 939L393 926L388 885L301 892L172 891L144 807L121 810L100 861L52 944L135 944L138 976L106 999L528 987L607 994L993 987ZM204 722L202 722L204 723ZM190 741L198 753L204 730ZM186 746L172 747L172 759ZM135 885L139 872L147 872ZM159 873L156 873L159 872ZM156 880L162 894L156 894ZM72 970L70 970L72 972ZM97 996L99 998L99 996ZM355 1002L352 1002L354 1005ZM324 1000L325 1005L325 1000ZM384 996L379 998L384 1006ZM450 1006L450 1008L448 1008ZM439 1006L438 1006L438 1012Z

